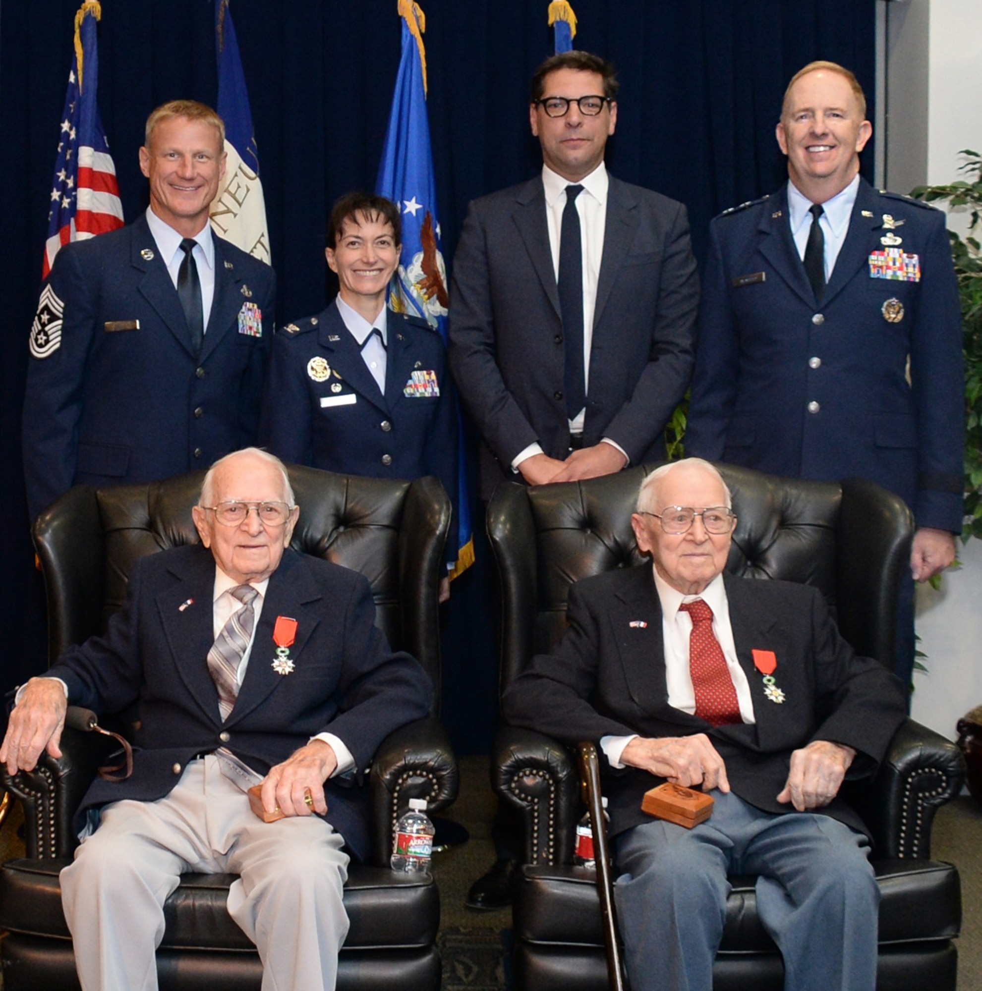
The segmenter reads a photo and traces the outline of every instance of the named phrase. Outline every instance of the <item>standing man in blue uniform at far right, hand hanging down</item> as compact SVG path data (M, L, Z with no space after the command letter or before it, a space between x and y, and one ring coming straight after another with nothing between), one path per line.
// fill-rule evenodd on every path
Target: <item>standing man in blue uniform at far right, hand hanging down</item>
M712 222L685 450L901 495L923 582L954 559L961 530L961 315L944 214L859 175L865 115L851 72L805 65L777 131L789 182ZM909 581L905 682L913 664Z

